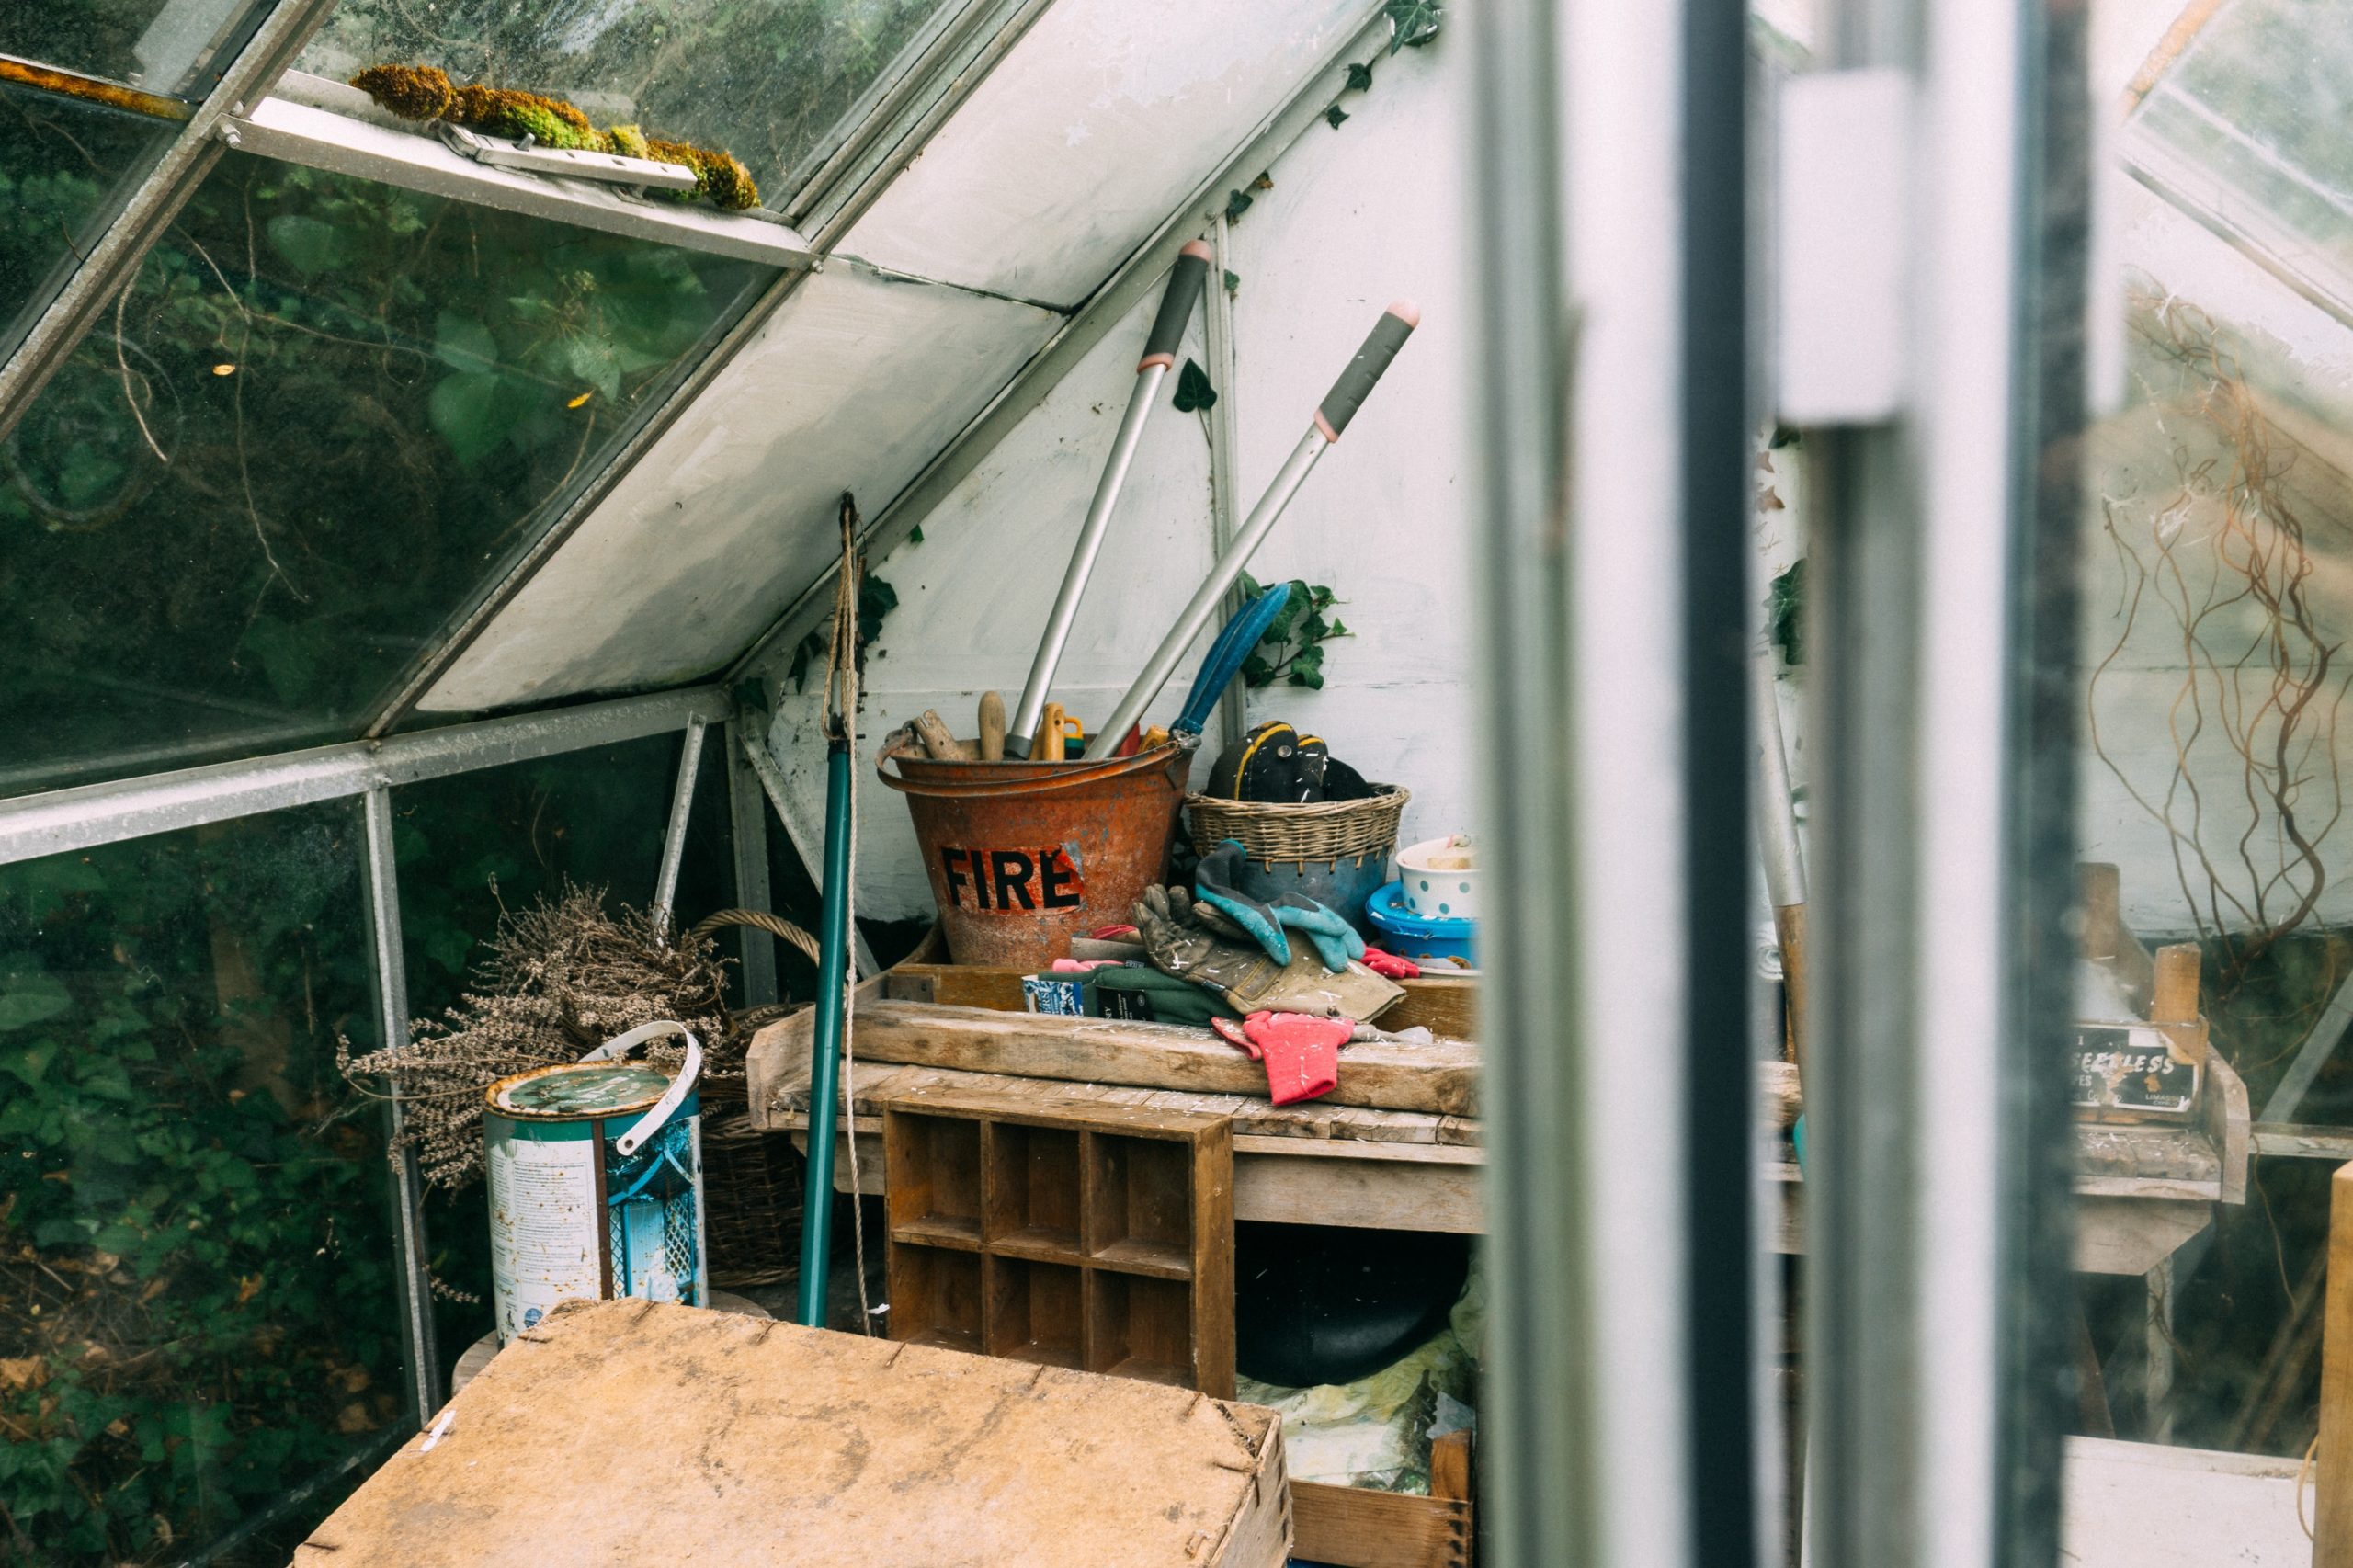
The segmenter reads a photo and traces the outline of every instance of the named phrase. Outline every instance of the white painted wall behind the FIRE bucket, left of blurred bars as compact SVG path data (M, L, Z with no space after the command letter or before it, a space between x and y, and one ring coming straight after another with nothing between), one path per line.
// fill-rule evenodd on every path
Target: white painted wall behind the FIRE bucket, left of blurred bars
M1252 692L1249 718L1289 718L1367 777L1414 791L1405 838L1473 824L1466 379L1471 372L1464 172L1468 52L1459 35L1374 64L1348 122L1311 132L1231 228L1240 428L1238 516L1289 454L1332 379L1398 297L1424 325L1318 464L1252 563L1261 579L1332 584L1355 633L1325 655L1325 690ZM1200 151L1200 172L1217 153ZM1212 287L1217 280L1212 280ZM932 706L972 732L981 690L1021 690L1087 497L1101 473L1153 299L1120 323L951 499L922 544L878 563L899 591L866 671L864 758ZM1207 363L1200 315L1186 353ZM1181 363L1181 360L1179 360ZM1174 386L1174 381L1169 381ZM1198 414L1160 407L1087 589L1054 697L1104 718L1209 570L1209 443ZM1155 713L1174 716L1198 652ZM795 808L821 822L816 683L786 692L772 749ZM1214 730L1212 730L1214 735ZM927 913L906 808L861 760L859 913ZM1207 775L1207 758L1195 779Z

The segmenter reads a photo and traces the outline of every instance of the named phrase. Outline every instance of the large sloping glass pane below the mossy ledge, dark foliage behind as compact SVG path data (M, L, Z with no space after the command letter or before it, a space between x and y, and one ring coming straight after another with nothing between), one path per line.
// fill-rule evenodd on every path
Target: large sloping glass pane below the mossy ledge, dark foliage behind
M0 447L0 791L358 732L767 278L224 155Z

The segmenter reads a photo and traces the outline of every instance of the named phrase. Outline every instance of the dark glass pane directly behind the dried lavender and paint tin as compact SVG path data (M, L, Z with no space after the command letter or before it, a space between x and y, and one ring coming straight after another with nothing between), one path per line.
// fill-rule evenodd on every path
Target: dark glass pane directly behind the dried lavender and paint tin
M685 732L649 735L393 791L400 937L414 1017L440 1017L464 991L478 989L504 911L560 897L565 885L602 890L614 913L652 902L682 742ZM706 756L694 803L678 873L682 923L727 904L727 777L715 758ZM489 1333L482 1187L428 1189L426 1234L435 1248L433 1276L449 1285L435 1300L447 1368Z

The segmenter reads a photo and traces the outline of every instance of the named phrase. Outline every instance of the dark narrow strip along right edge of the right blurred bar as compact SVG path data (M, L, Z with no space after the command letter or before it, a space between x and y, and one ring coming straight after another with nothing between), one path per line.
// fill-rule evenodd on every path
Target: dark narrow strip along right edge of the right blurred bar
M2019 85L2019 461L2012 469L2012 657L2002 725L2009 782L2002 881L2000 1224L1995 1375L1995 1561L2059 1554L2064 1434L2075 1420L2068 1311L2075 1137L2068 1041L2075 989L2078 579L2092 254L2089 5L2021 9ZM2097 301L2120 308L2122 301Z

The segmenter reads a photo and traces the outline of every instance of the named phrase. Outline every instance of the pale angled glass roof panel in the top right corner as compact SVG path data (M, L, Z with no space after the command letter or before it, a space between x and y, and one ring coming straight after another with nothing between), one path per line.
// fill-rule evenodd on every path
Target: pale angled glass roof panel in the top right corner
M2353 306L2353 31L2334 0L2235 0L2141 99L2127 165Z

